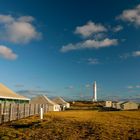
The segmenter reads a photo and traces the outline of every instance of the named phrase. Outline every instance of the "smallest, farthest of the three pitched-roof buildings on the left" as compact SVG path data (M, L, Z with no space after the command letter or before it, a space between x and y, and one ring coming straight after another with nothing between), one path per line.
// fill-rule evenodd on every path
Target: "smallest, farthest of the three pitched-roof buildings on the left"
M64 101L64 99L61 97L56 97L56 98L52 99L52 101L63 106L64 108L70 108L70 103Z

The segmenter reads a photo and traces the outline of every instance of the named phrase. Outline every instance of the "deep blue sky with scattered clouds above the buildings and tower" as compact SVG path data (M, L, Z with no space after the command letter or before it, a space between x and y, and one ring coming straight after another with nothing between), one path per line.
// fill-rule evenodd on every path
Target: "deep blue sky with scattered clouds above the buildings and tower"
M0 0L0 82L33 97L140 98L140 0Z

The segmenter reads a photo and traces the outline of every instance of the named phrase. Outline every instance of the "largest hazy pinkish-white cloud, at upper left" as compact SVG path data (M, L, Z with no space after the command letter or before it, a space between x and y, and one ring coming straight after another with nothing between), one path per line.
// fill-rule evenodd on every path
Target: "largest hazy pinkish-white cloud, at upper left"
M13 43L28 43L40 39L41 33L36 30L33 20L31 16L15 18L11 15L0 15L0 39Z

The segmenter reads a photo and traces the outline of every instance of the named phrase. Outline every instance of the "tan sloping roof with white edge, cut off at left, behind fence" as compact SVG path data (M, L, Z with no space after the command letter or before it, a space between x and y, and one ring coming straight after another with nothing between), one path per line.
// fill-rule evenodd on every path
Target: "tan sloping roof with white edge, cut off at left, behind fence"
M10 90L9 88L7 88L6 86L4 86L1 83L0 83L0 98L16 99L16 100L30 100L29 98L26 98L22 95L19 95L19 94L13 92L12 90Z

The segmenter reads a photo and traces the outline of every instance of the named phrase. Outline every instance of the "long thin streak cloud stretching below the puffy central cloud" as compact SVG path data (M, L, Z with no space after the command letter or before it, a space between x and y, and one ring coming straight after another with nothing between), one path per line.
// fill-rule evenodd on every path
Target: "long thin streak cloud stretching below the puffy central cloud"
M103 40L85 40L83 42L77 44L68 44L63 46L60 51L61 52L68 52L72 50L81 50L81 49L99 49L99 48L106 48L109 46L114 46L118 44L117 39L109 39L105 38Z

